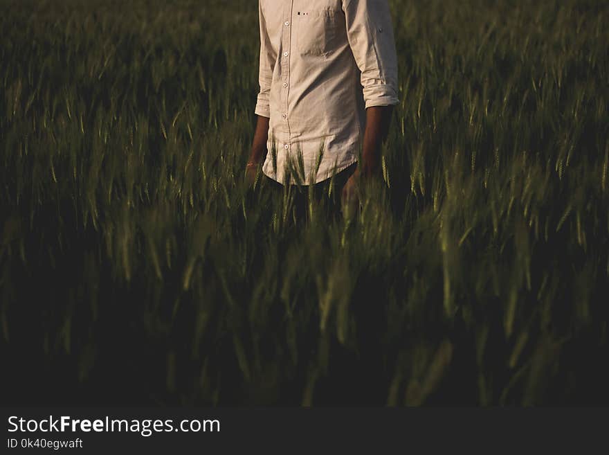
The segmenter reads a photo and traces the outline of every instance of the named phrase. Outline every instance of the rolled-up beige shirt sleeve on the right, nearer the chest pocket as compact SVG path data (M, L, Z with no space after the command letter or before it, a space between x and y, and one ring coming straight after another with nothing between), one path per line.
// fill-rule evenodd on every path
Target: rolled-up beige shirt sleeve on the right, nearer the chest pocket
M396 105L397 55L388 1L343 0L343 11L366 108Z

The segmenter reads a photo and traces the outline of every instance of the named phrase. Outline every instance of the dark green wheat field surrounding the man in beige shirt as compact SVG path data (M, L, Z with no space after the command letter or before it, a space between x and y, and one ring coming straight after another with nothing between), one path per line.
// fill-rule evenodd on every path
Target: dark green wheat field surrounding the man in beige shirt
M361 213L244 169L257 2L0 0L5 404L609 404L609 3L392 0Z

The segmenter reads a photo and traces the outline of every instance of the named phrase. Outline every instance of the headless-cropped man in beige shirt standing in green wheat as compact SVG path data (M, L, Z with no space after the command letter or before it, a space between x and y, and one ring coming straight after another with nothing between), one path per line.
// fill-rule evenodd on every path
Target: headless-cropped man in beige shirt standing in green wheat
M262 163L275 186L334 184L352 204L358 182L379 170L398 102L388 0L259 0L259 15L248 181Z

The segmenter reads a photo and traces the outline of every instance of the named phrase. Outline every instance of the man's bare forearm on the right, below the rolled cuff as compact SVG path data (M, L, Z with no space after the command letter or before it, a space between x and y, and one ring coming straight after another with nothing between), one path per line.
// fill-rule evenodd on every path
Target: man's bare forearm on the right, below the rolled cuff
M375 174L381 167L381 146L389 133L393 106L372 106L366 109L362 162L358 173L365 176Z

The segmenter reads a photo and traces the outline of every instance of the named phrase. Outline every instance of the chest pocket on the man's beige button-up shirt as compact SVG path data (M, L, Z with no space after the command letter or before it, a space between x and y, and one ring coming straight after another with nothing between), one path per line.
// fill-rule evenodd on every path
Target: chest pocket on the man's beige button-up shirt
M300 55L326 55L334 50L339 14L330 8L295 13L296 48Z

